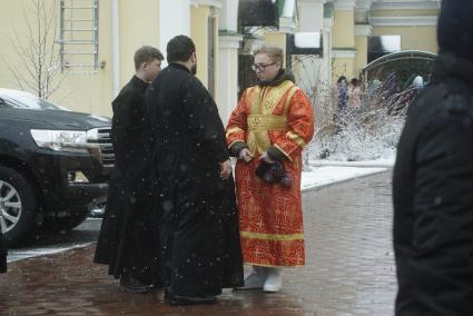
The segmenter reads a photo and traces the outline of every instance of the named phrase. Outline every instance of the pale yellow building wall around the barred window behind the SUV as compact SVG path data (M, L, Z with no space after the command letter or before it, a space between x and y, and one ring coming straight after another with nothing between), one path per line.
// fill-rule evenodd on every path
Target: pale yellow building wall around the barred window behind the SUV
M11 48L9 38L13 29L21 34L20 42L28 40L22 6L30 6L30 0L2 0L0 4L0 87L20 89L19 85L2 60L21 69L22 65ZM51 2L51 1L47 1ZM159 8L155 0L140 0L140 6L132 1L120 0L120 88L128 82L135 72L134 53L142 45L159 43ZM82 1L83 3L83 1ZM28 11L28 10L27 10ZM31 14L31 13L30 13ZM32 18L32 16L29 16ZM58 13L59 21L59 13ZM58 22L59 29L59 22ZM105 65L95 73L59 75L63 80L50 100L75 111L90 112L111 117L112 61L111 61L111 7L110 1L99 1L99 63ZM59 39L59 32L57 33ZM30 92L33 92L29 89Z

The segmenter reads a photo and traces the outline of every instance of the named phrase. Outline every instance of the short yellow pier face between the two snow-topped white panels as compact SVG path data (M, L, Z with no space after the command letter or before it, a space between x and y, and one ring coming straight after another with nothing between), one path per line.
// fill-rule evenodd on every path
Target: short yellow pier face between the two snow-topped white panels
M332 47L355 47L355 13L353 11L335 11Z

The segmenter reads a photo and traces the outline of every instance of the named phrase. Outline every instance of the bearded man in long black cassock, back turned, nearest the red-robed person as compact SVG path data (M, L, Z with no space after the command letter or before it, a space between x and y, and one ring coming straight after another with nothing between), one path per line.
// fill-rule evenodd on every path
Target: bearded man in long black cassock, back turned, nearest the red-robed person
M217 106L194 77L193 40L167 45L169 66L152 81L146 105L155 134L155 177L161 196L162 276L171 305L216 302L243 285L231 165Z

